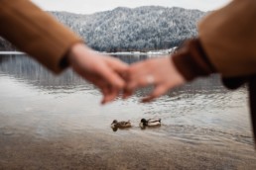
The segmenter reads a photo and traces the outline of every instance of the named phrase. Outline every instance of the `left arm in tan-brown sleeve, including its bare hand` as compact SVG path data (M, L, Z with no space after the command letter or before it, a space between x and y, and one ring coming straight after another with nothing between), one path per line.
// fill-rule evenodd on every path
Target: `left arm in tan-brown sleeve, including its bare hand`
M29 0L0 0L0 36L30 54L55 73L70 66L112 101L124 87L121 61L102 56Z

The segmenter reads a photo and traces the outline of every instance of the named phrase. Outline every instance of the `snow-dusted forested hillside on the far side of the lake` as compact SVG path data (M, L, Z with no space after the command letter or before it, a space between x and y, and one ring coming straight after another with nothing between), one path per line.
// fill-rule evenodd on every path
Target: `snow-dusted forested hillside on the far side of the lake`
M197 34L205 13L183 8L119 7L92 15L50 12L99 51L147 51L171 48ZM51 28L50 28L51 29ZM0 40L0 49L4 47Z

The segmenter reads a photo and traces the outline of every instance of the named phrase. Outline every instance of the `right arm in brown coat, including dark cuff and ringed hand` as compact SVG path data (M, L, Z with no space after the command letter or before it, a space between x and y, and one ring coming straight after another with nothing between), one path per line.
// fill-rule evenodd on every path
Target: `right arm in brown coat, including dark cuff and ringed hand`
M154 99L155 96L158 97L166 92L167 87L173 88L197 76L206 76L215 71L224 78L255 75L255 17L255 0L234 0L226 7L213 12L200 23L199 39L187 42L171 57L171 63L165 63L167 59L158 58L134 64L130 69L130 83L126 95L131 95L136 86L144 87L146 84L153 84L156 86L155 89L160 89L158 93L151 95L150 99ZM168 64L173 67L172 70L165 69ZM150 68L154 71L150 71ZM161 74L161 70L167 72L163 71ZM159 72L158 76L156 76L157 72ZM142 80L143 76L152 77L152 75L155 77L150 78L151 83L145 84ZM165 82L161 84L169 82L169 86L160 88L159 76L165 77ZM147 79L145 77L144 79ZM183 77L186 81L181 83L181 78L178 81L177 77ZM233 81L234 79L228 79L225 84L236 87L243 83L241 80Z

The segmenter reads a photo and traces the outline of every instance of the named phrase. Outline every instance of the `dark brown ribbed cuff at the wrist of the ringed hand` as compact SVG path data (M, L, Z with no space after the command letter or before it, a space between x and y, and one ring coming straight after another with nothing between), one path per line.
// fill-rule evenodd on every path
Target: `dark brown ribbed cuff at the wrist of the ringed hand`
M186 80L199 76L207 76L216 72L216 69L209 62L198 39L193 39L186 42L173 56L171 57L178 71L185 77Z

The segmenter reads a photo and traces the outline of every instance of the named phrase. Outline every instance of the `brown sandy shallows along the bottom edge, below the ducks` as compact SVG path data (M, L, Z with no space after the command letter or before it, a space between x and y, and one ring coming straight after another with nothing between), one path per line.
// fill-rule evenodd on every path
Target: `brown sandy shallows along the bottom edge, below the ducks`
M90 130L52 138L1 132L0 138L0 169L256 168L253 146L228 140L212 146L125 130Z

